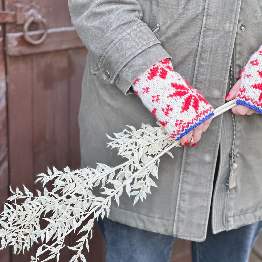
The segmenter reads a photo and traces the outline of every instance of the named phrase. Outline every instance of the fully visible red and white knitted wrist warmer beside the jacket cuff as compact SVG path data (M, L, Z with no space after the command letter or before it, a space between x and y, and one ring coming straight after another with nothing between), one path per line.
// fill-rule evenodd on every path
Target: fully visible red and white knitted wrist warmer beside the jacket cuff
M175 140L214 115L213 107L174 71L168 58L152 65L132 87Z

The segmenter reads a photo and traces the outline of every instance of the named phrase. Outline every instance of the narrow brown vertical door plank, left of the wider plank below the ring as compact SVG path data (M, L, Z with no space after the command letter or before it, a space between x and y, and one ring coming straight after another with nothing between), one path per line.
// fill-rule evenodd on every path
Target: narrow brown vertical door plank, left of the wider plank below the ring
M32 134L32 57L7 57L9 181L12 188L25 184L34 192ZM30 261L30 255L13 255L12 261Z

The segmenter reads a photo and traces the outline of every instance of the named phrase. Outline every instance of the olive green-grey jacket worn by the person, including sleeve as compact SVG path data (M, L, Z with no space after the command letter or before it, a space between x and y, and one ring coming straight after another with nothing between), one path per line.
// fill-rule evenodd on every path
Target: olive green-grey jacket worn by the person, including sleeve
M133 81L151 65L171 57L174 69L216 108L225 103L230 85L262 43L261 0L68 2L72 22L89 50L79 113L82 167L124 161L106 148L106 133L121 132L127 124L156 125L151 112L130 91ZM212 120L197 146L173 149L173 160L162 156L158 188L135 206L134 199L123 193L109 218L204 241L220 147L213 233L262 220L262 116L236 116L235 123L227 111ZM238 167L236 187L228 191L232 144Z

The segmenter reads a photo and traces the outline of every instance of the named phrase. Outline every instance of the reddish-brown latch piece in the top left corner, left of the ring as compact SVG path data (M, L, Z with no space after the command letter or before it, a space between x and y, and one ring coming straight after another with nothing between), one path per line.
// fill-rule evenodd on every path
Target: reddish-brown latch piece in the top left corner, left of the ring
M21 4L15 4L15 11L0 11L0 24L16 23L18 25L24 24L25 14L24 7Z

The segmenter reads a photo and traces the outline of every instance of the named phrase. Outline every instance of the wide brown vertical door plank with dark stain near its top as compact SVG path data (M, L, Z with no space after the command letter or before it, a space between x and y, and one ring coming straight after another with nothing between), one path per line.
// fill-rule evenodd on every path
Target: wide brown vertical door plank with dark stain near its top
M68 164L68 54L37 54L32 63L34 174Z

